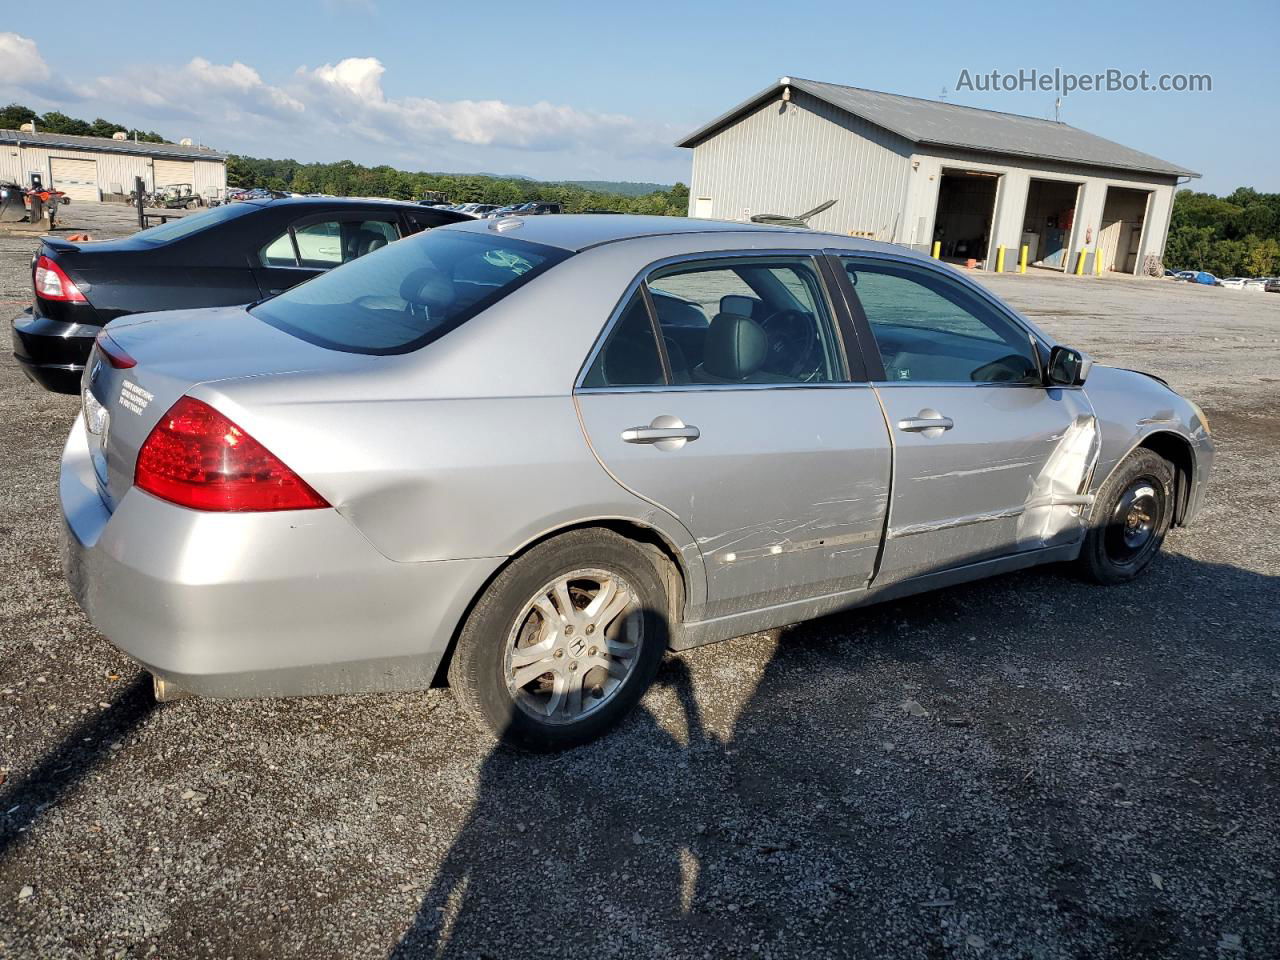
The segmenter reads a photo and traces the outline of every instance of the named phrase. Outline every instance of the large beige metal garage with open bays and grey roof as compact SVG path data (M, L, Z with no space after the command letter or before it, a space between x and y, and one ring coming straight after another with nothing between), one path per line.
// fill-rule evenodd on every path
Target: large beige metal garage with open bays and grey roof
M836 200L814 229L954 262L1139 273L1162 256L1174 189L1199 177L1056 120L782 77L680 141L690 216L745 220Z

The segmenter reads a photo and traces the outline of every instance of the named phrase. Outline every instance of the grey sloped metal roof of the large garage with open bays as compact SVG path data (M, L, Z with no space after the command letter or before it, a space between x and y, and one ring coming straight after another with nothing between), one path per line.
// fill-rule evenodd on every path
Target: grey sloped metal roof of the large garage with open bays
M728 113L698 128L676 146L698 146L746 111L776 99L786 87L804 91L918 145L1059 160L1112 170L1199 177L1194 170L1123 143L1103 140L1059 120L1041 120L1036 116L982 110L938 100L919 100L899 93L881 93L860 87L842 87L799 77L782 77L750 100L742 101Z

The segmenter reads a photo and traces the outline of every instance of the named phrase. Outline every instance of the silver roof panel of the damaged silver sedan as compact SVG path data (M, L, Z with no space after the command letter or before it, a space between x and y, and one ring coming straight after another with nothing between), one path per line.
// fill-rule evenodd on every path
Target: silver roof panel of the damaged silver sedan
M507 229L500 227L500 224L511 220L518 220L520 223ZM844 237L838 233L808 230L803 227L771 227L754 223L735 223L732 220L699 220L687 216L643 216L636 214L559 214L556 216L530 218L515 215L498 220L471 220L468 223L449 224L447 228L440 229L468 230L472 233L500 230L504 236L513 239L543 243L549 247L559 247L561 250L575 252L604 243L695 233L717 236L739 234L756 238L762 234L801 236L813 237L815 246L859 247L865 250L884 248L899 253L908 252L906 247L897 244L863 241L854 237Z

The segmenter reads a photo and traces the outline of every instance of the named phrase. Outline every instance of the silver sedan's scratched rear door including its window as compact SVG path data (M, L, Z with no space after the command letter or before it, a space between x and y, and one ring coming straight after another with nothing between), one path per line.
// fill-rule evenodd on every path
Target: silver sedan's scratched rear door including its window
M874 390L847 380L813 260L682 265L650 284L637 297L662 372L635 361L650 347L632 306L577 403L602 465L696 538L708 605L694 616L865 586L888 436ZM644 379L660 383L627 383Z

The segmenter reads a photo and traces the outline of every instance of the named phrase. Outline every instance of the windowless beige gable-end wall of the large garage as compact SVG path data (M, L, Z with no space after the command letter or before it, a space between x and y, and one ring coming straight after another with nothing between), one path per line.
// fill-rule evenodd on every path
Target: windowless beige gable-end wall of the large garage
M790 102L780 96L694 147L689 214L746 220L836 200L812 228L904 242L910 152L901 137L792 90Z

